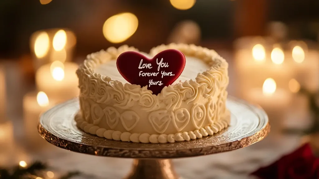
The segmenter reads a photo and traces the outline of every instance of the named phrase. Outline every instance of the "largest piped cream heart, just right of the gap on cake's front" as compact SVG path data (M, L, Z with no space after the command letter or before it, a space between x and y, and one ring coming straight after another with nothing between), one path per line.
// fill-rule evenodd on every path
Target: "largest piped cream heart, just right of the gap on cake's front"
M174 113L173 111L160 109L151 112L148 115L148 120L150 121L154 131L162 134L167 130L168 124L171 122L171 120L174 120Z

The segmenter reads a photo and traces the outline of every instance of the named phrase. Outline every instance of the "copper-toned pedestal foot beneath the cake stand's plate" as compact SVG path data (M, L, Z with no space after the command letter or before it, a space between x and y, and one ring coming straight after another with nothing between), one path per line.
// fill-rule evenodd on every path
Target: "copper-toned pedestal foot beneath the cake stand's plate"
M169 159L134 159L133 168L125 179L179 179Z

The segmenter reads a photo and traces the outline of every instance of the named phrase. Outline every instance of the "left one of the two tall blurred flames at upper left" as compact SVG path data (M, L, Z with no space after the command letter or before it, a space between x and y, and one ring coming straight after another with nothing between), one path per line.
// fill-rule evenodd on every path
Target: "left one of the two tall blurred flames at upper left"
M49 36L46 32L41 32L34 42L34 53L38 58L47 55L49 51Z

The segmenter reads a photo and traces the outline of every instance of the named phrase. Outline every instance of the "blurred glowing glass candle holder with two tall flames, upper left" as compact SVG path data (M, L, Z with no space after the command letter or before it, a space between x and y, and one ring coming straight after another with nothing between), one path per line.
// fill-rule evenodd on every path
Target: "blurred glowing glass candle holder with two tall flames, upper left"
M75 44L74 33L67 29L48 29L33 33L30 49L35 59L35 68L53 61L70 61Z

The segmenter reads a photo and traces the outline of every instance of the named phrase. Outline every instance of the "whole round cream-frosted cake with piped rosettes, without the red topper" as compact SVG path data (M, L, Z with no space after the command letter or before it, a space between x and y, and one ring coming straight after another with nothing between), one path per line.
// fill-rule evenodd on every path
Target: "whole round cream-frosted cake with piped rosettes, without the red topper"
M184 54L181 75L160 93L129 83L116 60L127 45L88 55L79 66L78 128L99 137L126 142L174 143L213 135L228 127L228 63L214 50L169 44L152 48L151 58L167 49ZM165 59L164 59L165 60Z

